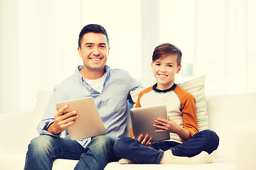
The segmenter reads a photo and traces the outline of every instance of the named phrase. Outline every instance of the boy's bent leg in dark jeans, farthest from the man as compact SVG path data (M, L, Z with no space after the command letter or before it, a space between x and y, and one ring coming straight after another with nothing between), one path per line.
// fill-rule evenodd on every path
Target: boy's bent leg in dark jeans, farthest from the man
M208 154L212 153L218 148L218 144L219 137L215 132L203 130L183 144L171 147L171 152L178 157L194 157L202 151L208 152Z

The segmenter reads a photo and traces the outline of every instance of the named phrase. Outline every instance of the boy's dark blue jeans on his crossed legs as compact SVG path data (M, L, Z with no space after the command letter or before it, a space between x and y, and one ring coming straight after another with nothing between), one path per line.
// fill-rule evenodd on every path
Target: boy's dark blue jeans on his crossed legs
M135 163L160 164L164 151L168 149L171 149L171 152L178 157L193 157L202 151L210 154L217 149L218 144L219 137L212 130L198 132L183 144L161 141L155 142L151 147L145 147L131 137L122 137L114 144L114 154L117 157L130 159Z

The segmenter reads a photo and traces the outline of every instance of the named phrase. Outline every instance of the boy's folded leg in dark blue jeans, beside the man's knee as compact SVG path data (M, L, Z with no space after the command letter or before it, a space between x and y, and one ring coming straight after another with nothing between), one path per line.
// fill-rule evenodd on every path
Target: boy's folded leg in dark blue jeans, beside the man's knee
M117 157L132 160L134 163L160 164L164 151L145 147L132 137L122 137L114 144L114 154Z

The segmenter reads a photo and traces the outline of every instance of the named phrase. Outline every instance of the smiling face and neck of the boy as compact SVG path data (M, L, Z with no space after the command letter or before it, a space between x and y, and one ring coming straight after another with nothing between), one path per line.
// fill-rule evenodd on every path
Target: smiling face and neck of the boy
M181 65L177 64L176 55L164 55L151 63L151 68L156 77L156 89L165 90L174 85L175 74L181 71Z

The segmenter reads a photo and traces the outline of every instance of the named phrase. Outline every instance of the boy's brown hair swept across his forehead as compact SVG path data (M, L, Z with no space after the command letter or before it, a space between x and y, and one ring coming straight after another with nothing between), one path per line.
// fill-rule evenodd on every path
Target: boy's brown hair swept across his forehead
M182 53L175 45L164 43L155 47L152 55L152 62L159 60L159 58L164 57L164 55L176 55L178 66L181 65Z

